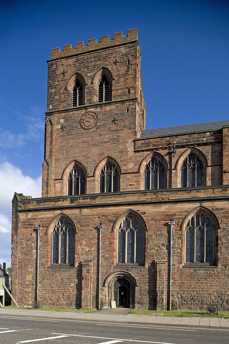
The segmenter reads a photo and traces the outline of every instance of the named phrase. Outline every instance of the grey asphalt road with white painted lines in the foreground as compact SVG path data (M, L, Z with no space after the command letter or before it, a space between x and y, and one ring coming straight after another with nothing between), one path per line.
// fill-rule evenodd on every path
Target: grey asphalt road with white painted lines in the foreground
M0 344L228 344L229 330L0 317Z

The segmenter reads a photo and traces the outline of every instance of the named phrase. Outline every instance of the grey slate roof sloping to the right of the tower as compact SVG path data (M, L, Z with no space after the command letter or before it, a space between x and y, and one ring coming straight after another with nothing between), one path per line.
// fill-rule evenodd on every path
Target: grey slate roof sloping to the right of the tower
M168 127L159 129L143 130L140 134L140 139L147 137L172 136L177 134L187 134L191 132L211 131L222 129L223 126L229 126L229 120L207 122L198 124L189 124L186 126Z

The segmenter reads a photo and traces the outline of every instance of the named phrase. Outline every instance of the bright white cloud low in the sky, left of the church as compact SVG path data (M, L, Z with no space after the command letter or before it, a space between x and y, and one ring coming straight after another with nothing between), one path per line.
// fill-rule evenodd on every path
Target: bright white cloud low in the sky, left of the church
M25 196L41 197L42 177L33 179L8 162L0 165L0 262L10 266L11 261L11 214L14 192Z

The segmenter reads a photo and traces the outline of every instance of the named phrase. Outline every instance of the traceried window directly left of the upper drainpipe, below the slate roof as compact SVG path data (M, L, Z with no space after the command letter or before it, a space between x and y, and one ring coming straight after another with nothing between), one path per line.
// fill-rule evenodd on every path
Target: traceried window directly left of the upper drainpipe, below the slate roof
M151 158L145 166L145 190L164 189L165 168L157 158Z

